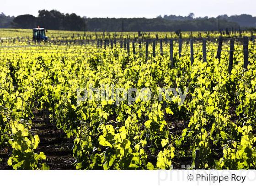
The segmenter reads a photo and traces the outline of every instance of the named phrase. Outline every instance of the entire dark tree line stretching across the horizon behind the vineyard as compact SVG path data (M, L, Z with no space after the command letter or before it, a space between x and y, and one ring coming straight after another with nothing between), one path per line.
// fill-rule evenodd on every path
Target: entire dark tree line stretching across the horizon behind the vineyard
M157 16L147 18L86 18L76 14L63 14L58 10L39 10L38 16L20 15L16 17L0 14L0 28L32 29L37 26L49 30L67 31L218 31L232 28L256 27L256 17L251 15L216 18L188 16Z

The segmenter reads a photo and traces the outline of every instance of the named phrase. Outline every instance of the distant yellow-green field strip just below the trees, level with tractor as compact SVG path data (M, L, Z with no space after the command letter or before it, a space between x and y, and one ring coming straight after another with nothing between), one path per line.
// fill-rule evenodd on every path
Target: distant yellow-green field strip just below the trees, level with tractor
M133 40L133 38L138 38L138 32L88 32L88 31L52 31L48 30L46 33L47 36L52 40L60 40L60 39L76 39L76 40L95 40L95 39L121 39L121 38L129 38ZM143 38L179 38L175 32L141 32L141 37ZM217 38L219 37L219 32L181 32L182 38ZM233 33L232 31L227 34L223 32L222 36L224 37L240 37L239 32ZM241 36L251 36L249 31L245 31L241 33ZM32 29L0 29L0 38L32 38Z

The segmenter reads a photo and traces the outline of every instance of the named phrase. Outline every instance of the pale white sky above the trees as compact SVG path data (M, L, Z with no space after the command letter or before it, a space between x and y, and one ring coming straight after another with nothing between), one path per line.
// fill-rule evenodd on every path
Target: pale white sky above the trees
M56 9L87 17L146 17L158 15L216 17L227 14L256 16L256 0L0 0L5 15L38 15L38 10Z

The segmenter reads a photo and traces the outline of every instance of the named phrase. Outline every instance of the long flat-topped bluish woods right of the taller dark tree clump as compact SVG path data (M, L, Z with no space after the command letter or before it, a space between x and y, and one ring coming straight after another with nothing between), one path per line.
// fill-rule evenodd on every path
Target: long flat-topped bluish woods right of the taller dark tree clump
M87 18L88 31L218 31L218 19L170 21L162 18ZM235 22L220 20L223 30L239 30Z

